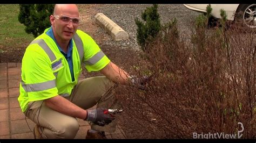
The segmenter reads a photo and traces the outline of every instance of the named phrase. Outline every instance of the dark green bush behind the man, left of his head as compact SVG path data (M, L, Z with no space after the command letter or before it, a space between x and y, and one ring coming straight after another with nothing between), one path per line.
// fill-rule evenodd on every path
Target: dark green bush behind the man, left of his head
M19 4L18 20L26 26L26 33L37 37L51 26L49 16L53 9L53 4Z

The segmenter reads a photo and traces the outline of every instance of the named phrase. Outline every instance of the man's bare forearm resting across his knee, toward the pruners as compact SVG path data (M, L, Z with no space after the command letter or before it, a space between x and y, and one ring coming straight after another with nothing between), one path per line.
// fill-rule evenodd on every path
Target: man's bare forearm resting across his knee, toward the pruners
M49 106L49 108L56 110L60 113L63 113L65 115L68 115L68 116L85 119L86 115L87 115L86 110L73 104L72 102L68 101L68 99L66 99L60 95L45 99L45 104L47 106Z

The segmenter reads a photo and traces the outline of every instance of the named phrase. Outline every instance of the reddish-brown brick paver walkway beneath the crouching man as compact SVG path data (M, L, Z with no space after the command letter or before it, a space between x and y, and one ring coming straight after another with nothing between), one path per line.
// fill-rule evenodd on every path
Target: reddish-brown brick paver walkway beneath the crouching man
M84 76L80 75L79 80ZM0 139L33 139L35 123L23 115L19 108L19 83L21 63L0 63ZM75 139L85 139L89 124L79 121L79 131ZM27 124L28 123L28 124ZM124 139L124 133L117 128L114 133L106 133L108 139Z

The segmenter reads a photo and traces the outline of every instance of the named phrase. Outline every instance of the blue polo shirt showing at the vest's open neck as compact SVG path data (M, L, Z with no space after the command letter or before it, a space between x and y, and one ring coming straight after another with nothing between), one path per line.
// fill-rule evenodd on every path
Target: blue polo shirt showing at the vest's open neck
M55 37L53 35L53 31L52 31L52 26L51 28L46 32L47 35L49 35L56 43L56 45L59 48L60 53L62 53L66 59L66 61L68 61L69 63L69 70L70 70L70 74L72 77L72 81L75 81L75 77L74 77L74 70L73 70L73 60L72 60L72 49L73 49L73 42L72 39L69 41L69 47L68 47L68 52L65 53L62 48L60 48L59 44L57 43L57 41L55 40Z

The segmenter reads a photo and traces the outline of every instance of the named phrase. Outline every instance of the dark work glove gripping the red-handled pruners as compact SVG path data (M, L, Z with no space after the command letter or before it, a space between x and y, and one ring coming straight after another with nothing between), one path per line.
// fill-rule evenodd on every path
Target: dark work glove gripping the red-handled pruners
M112 120L114 120L114 116L109 113L107 109L103 108L97 108L93 110L86 110L87 111L87 116L86 119L87 121L91 121L93 124L99 125L99 126L104 126L109 123L111 123Z

